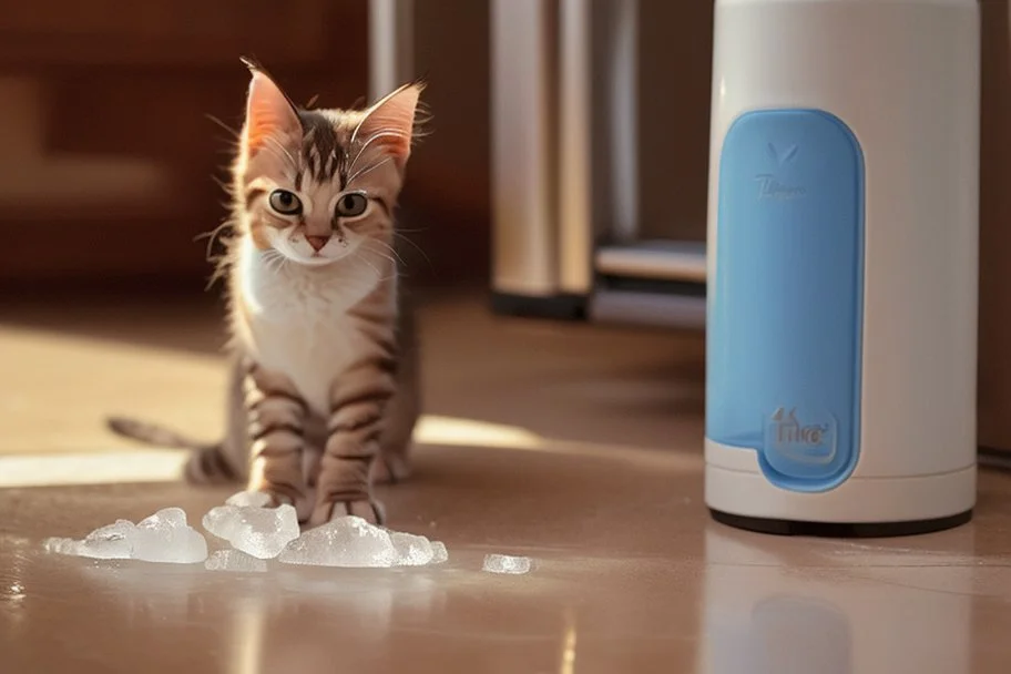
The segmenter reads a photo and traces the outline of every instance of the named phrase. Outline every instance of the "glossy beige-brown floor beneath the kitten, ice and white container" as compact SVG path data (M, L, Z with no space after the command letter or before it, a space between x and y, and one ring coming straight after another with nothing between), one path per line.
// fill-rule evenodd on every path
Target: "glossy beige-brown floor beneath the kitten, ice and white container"
M425 328L417 472L384 499L449 564L235 575L41 550L228 493L101 426L216 433L213 310L6 307L0 672L1009 671L1011 477L984 472L976 520L938 534L731 530L702 501L698 335L496 319L466 298L433 302ZM486 552L535 569L489 575Z

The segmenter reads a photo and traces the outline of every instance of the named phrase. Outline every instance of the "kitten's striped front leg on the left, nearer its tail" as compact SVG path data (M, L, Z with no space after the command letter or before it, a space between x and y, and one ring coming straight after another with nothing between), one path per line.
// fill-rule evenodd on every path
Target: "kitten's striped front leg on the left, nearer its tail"
M307 406L292 381L252 365L245 381L249 419L251 491L263 491L275 504L289 503L305 521L313 503L303 472Z

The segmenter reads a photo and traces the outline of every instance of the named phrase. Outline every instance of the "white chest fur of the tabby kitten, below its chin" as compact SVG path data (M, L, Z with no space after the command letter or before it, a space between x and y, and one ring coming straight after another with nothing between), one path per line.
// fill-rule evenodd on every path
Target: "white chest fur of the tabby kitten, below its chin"
M237 337L261 367L284 372L326 415L330 388L364 339L348 309L388 278L358 255L317 268L282 264L275 255L242 244L235 273L245 312L236 309Z

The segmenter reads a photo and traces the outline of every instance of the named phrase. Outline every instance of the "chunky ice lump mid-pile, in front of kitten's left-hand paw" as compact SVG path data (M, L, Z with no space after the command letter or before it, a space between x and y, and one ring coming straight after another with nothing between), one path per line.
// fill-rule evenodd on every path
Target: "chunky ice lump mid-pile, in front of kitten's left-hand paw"
M298 514L287 503L277 508L219 506L204 515L204 529L236 550L274 559L298 538Z

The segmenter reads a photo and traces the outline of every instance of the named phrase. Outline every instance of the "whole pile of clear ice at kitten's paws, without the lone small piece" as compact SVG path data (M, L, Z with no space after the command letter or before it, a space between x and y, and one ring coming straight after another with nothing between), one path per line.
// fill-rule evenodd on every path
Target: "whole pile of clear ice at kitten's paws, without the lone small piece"
M83 540L49 539L47 550L94 559L195 564L213 571L263 572L268 560L316 566L392 568L440 564L446 545L375 527L357 517L336 518L302 533L292 506L268 508L268 498L239 492L203 518L204 529L231 545L208 555L207 540L180 508L160 510L137 524L119 520Z

